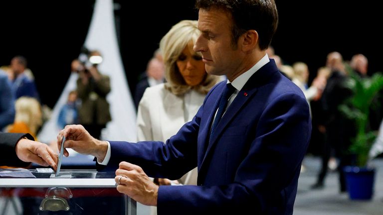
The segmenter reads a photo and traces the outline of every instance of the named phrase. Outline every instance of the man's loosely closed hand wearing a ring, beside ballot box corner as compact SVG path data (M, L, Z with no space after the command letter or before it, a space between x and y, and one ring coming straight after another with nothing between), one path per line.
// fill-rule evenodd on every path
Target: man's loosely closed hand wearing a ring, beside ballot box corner
M116 170L117 191L128 195L147 206L157 206L158 186L145 174L141 167L121 162Z

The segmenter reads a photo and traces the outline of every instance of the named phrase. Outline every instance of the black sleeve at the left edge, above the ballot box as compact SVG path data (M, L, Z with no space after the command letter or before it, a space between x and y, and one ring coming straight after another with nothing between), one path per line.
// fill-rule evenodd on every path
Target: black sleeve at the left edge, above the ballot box
M24 133L3 133L0 132L0 165L26 167L30 163L18 159L15 151L15 145L22 137L34 140L30 134Z

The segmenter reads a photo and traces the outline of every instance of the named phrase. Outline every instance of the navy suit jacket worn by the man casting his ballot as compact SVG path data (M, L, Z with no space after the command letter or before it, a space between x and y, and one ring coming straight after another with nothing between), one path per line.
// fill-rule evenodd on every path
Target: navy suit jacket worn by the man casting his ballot
M211 89L192 121L166 144L110 141L108 167L127 161L151 177L178 179L197 166L199 186L160 186L159 215L291 215L311 135L302 91L270 60L239 91L208 144L224 87Z

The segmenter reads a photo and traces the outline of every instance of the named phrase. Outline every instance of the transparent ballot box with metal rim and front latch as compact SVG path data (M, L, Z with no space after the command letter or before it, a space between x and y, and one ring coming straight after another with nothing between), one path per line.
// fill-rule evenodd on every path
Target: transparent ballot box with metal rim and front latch
M0 215L136 215L136 202L116 189L115 172L23 171L0 176Z

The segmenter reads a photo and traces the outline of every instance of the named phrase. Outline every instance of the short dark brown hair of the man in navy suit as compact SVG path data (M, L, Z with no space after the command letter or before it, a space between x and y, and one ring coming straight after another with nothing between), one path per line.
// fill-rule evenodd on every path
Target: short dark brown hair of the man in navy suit
M278 11L274 0L196 0L197 9L217 8L231 13L232 41L248 30L256 30L259 47L266 49L277 30Z

